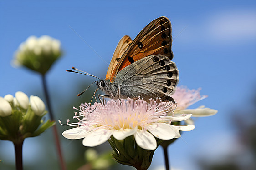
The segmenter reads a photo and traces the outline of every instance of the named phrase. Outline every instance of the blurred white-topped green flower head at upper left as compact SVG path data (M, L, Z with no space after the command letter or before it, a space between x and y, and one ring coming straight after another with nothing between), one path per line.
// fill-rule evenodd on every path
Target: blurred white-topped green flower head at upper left
M61 43L48 35L30 36L15 52L13 64L45 74L61 56Z

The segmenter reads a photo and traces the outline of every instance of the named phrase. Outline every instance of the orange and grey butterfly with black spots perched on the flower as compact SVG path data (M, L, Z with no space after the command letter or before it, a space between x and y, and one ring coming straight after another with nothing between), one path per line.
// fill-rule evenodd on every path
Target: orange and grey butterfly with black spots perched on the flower
M174 102L171 95L179 82L179 71L171 61L171 47L171 22L167 17L150 22L134 40L128 35L123 36L114 51L105 80L96 80L97 90L106 93L98 97L115 100L141 97L145 101L158 97Z

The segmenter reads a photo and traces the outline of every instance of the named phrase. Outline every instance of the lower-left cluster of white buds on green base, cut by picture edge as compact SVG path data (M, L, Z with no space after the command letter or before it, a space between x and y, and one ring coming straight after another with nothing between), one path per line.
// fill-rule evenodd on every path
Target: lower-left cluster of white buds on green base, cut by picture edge
M0 97L0 139L20 143L27 137L38 136L55 124L42 120L46 115L44 102L38 97L18 91L15 97Z

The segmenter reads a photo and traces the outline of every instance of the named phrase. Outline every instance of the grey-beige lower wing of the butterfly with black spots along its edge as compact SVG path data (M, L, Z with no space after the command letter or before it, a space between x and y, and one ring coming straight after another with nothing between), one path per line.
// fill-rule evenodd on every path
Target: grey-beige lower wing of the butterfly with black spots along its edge
M150 55L128 65L121 70L114 81L120 87L120 96L116 98L159 97L163 101L173 101L179 82L179 71L173 61L164 55Z

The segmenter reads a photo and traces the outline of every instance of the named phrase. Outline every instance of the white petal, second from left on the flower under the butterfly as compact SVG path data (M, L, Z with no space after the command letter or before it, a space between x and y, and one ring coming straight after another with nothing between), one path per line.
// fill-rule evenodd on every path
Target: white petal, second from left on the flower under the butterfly
M101 145L110 138L110 136L113 134L113 131L114 130L106 129L93 130L92 132L85 135L85 138L82 140L82 145L89 147Z

